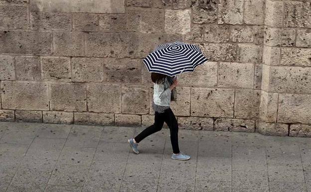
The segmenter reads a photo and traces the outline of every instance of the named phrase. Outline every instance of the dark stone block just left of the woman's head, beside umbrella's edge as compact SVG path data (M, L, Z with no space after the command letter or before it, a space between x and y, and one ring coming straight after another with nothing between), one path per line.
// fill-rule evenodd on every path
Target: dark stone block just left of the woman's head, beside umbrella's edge
M125 83L141 82L141 67L142 67L141 59L111 58L106 59L104 62L108 82L125 82Z

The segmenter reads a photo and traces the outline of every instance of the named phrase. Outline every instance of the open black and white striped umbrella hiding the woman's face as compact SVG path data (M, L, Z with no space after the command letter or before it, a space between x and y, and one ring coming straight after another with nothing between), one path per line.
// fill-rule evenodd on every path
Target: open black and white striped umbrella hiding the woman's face
M149 72L175 76L183 72L193 72L208 61L200 47L179 41L158 45L143 60Z

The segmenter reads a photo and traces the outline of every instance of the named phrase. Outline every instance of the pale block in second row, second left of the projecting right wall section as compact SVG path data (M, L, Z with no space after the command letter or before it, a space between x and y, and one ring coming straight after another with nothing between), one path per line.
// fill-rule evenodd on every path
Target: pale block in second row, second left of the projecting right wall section
M230 40L232 42L246 42L254 41L253 27L248 25L232 25L230 27Z

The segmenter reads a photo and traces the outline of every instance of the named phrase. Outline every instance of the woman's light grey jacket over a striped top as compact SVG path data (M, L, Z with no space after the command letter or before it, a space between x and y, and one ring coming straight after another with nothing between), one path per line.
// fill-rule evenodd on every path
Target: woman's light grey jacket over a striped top
M165 78L164 83L154 83L154 102L155 105L169 106L170 104L170 85Z

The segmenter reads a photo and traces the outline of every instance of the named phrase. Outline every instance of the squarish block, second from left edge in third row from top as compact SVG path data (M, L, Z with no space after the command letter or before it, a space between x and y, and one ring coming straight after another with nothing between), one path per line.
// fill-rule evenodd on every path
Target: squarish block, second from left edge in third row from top
M54 31L54 54L58 56L83 56L84 33Z

